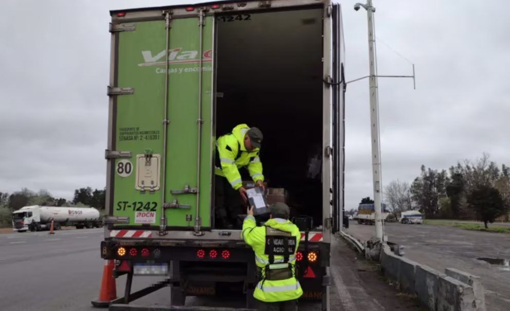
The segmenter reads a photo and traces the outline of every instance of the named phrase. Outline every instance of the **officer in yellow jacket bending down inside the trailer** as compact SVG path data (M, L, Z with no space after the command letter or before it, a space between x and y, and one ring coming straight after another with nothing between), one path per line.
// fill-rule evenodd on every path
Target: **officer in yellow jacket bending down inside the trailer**
M241 198L247 202L240 168L247 167L252 180L258 186L264 187L262 162L259 157L262 139L262 131L259 128L240 124L216 141L214 205L216 221L220 222L220 226L232 226L232 222L235 222L242 213L239 197L233 195L232 189L239 191ZM239 219L239 226L240 221Z

